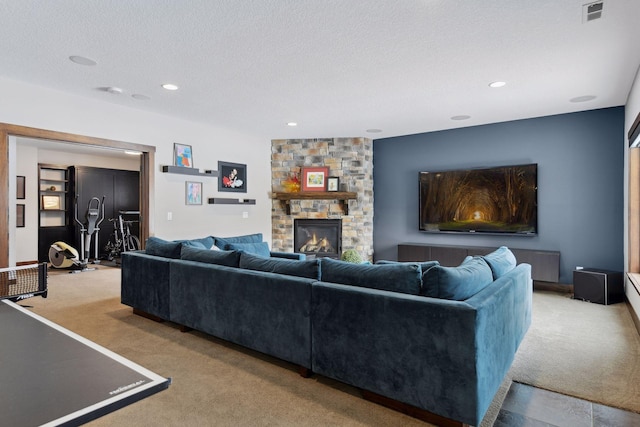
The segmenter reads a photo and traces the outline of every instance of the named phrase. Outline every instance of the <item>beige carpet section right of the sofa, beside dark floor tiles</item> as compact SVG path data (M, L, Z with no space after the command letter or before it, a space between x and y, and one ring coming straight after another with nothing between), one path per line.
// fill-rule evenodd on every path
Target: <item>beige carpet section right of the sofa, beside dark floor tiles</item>
M640 336L625 303L536 291L513 381L640 413Z

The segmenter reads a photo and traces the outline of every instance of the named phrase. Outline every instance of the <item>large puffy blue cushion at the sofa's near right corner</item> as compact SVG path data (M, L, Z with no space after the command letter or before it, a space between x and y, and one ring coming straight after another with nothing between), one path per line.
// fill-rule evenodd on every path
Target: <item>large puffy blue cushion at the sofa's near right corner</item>
M493 282L491 268L481 257L465 259L458 267L436 265L422 277L422 295L463 301Z

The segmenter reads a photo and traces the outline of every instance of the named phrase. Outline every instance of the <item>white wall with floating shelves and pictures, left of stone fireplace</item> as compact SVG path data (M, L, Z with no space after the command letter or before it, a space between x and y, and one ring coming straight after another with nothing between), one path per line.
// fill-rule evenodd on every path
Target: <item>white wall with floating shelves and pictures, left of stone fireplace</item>
M261 232L271 242L270 139L4 78L0 93L0 122L155 146L152 235L174 239ZM216 178L161 173L161 165L173 162L174 142L193 147L199 169L217 169L218 160L246 164L247 193L219 193ZM187 180L203 182L202 206L185 205ZM256 205L208 205L209 197L251 198ZM172 221L167 220L168 212ZM248 218L242 217L243 212Z

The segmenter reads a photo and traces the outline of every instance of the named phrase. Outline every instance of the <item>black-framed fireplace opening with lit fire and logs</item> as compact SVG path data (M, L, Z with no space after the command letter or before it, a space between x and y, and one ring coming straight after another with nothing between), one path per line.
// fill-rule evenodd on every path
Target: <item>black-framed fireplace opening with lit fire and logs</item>
M293 221L294 251L316 257L340 258L342 220L296 219Z

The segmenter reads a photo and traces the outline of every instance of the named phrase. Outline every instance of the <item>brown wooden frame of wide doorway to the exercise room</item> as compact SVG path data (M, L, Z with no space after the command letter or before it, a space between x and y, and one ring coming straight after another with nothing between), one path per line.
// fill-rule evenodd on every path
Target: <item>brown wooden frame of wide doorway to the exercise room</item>
M150 219L154 203L154 170L156 147L117 141L113 139L95 138L86 135L57 132L27 126L0 123L0 188L5 189L4 196L0 196L0 268L9 265L9 137L24 137L31 139L46 139L84 146L115 148L119 150L139 151L140 156L140 241L145 242L149 237ZM144 246L144 244L143 244Z

